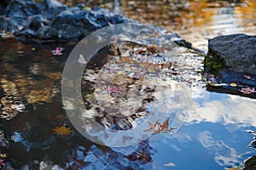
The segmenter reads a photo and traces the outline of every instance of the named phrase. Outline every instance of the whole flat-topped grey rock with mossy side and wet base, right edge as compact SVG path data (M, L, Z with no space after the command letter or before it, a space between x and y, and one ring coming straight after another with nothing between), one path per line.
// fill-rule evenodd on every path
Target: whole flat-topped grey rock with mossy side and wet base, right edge
M207 86L207 90L256 99L255 93L244 94L242 88L256 88L256 36L234 34L209 40L205 72L216 77L213 82L224 87ZM236 84L231 86L230 84Z

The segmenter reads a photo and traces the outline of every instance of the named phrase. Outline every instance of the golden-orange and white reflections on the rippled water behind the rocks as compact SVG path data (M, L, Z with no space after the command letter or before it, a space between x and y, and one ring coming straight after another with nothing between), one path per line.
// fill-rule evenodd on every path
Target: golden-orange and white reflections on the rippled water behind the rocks
M68 2L68 1L66 1ZM82 0L69 1L77 4ZM86 5L113 10L113 1L86 1ZM238 1L160 1L119 0L119 13L144 24L165 27L192 42L195 48L207 52L207 40L219 35L256 33L256 3L254 0Z

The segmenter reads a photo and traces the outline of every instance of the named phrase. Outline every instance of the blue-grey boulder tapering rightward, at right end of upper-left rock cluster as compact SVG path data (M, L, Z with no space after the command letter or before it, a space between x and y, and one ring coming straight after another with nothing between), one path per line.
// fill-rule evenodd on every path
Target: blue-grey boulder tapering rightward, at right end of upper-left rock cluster
M110 23L125 22L125 20L106 10L93 11L69 8L55 17L51 25L52 32L55 37L60 39L78 40L92 31L108 26Z

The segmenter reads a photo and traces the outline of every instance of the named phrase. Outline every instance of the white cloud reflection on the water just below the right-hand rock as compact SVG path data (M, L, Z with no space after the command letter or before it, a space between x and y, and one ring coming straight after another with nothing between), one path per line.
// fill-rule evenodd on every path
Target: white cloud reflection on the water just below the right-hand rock
M193 103L186 119L189 123L218 122L224 125L256 127L256 100L230 94L216 94L193 89Z

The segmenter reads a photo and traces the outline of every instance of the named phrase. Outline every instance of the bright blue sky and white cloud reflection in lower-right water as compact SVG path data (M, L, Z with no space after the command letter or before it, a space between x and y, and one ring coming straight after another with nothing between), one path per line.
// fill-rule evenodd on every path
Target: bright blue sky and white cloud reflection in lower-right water
M246 133L255 128L255 100L197 90L201 95L183 127L173 136L149 140L157 150L154 169L224 169L255 154L247 147L253 137Z

